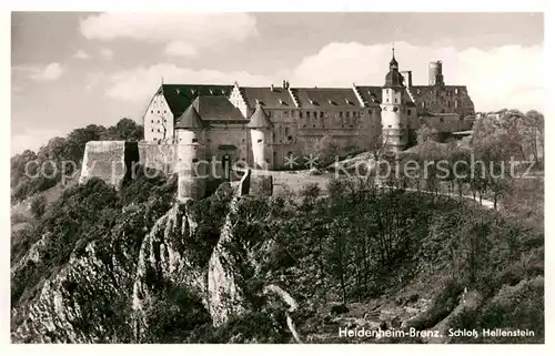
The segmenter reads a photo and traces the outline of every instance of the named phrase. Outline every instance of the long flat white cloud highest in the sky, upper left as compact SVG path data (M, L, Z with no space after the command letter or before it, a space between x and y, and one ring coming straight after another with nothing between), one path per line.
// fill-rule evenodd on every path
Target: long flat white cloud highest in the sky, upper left
M199 49L221 48L256 35L256 20L249 13L101 13L80 21L90 40L131 39L167 44L171 55L190 55Z

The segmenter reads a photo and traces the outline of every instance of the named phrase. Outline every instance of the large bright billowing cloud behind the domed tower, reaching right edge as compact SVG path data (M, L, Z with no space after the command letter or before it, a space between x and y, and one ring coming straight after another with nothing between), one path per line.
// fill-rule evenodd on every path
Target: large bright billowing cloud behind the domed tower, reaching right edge
M517 108L543 110L544 73L539 45L505 45L491 50L416 47L395 43L400 70L413 71L413 84L427 84L427 65L443 61L446 84L467 85L476 111ZM286 71L293 87L383 85L391 44L330 43Z

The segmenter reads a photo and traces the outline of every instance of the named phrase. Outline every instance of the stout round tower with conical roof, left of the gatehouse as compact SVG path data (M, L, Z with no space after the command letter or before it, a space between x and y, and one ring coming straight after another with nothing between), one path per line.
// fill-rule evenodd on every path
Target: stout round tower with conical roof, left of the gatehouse
M200 200L206 190L208 166L204 160L202 120L190 105L175 124L178 159L178 200Z

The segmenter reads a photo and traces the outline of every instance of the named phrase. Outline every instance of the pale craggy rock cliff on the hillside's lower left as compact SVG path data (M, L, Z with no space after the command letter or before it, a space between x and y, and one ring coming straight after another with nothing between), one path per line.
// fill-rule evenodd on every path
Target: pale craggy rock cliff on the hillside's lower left
M152 311L175 288L198 301L213 326L244 314L250 305L244 273L255 269L252 250L260 244L245 246L235 236L241 184L228 185L228 190L232 190L232 197L215 245L205 248L211 251L209 256L201 255L195 241L199 220L203 218L195 208L198 202L174 203L142 237L128 235L125 224L121 224L110 235L75 248L68 263L12 309L13 342L145 342ZM213 199L220 199L218 195ZM131 224L144 212L130 205L124 213ZM48 238L42 236L13 265L12 276L49 253ZM253 277L253 273L249 275Z

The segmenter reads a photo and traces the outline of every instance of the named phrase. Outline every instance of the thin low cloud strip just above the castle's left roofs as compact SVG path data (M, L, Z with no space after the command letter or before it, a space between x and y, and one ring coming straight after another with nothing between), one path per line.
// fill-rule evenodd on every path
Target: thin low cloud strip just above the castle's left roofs
M198 84L229 84L234 81L243 85L270 85L271 79L263 75L253 75L244 71L220 72L203 69L195 71L180 68L171 63L158 63L151 67L119 71L109 78L107 94L113 99L145 102L164 83L198 83Z

